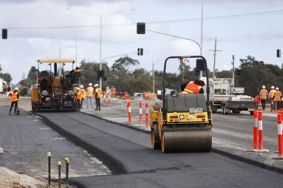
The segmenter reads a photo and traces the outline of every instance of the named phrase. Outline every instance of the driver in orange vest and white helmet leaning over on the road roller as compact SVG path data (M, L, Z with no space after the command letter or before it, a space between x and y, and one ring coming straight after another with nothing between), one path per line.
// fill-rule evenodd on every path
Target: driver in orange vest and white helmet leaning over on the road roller
M195 81L189 81L181 84L182 93L204 93L203 86L206 86L206 78L201 77Z

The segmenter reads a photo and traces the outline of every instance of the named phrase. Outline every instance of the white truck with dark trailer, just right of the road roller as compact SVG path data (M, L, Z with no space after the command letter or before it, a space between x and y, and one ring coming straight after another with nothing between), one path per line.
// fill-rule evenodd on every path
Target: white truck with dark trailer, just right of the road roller
M251 96L244 95L244 88L235 88L232 83L232 78L209 78L211 111L221 109L222 114L249 111L252 115L258 109L258 103Z

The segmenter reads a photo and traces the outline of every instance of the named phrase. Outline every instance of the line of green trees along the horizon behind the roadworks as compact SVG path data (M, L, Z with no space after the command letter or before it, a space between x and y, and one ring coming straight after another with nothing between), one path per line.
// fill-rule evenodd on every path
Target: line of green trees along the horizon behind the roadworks
M176 60L179 61L179 60ZM247 56L245 59L240 59L241 74L235 76L235 87L244 87L245 94L250 96L256 96L258 87L258 70L259 65L255 57ZM104 76L106 81L102 81L102 90L106 90L114 86L118 92L128 92L133 95L134 92L152 92L153 74L152 71L147 71L138 67L140 62L136 59L132 59L128 56L121 57L113 63L111 67L108 66L106 61L102 62L102 69L104 70ZM179 90L180 84L189 80L195 80L198 77L195 76L195 68L191 68L191 65L195 65L195 62L185 61L179 63L178 71L175 73L166 73L165 86L166 88ZM99 83L97 80L98 70L100 64L95 61L81 61L81 84L86 88L88 83ZM154 71L155 73L155 91L161 90L163 71ZM212 72L208 70L209 77L212 77ZM215 73L217 78L232 78L232 69L227 71L218 71ZM204 73L204 76L206 74ZM283 68L277 65L265 64L260 67L260 89L264 84L266 89L269 90L271 86L283 88L282 83ZM28 77L25 80L21 80L19 84L21 86L30 87L31 84L36 83L36 69L32 67L29 71Z

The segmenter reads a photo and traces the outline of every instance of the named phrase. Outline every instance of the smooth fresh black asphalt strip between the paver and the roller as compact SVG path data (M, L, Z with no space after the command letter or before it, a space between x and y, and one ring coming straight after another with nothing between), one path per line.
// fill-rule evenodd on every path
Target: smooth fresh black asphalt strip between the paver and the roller
M283 183L279 173L213 152L163 154L151 149L149 134L86 114L37 114L112 170L114 175L72 178L85 187L276 187Z

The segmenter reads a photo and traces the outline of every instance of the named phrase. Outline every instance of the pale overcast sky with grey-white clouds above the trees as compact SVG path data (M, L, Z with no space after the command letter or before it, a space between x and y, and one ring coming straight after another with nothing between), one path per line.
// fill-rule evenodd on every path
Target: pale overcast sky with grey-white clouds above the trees
M160 22L201 18L201 0L0 0L0 28L8 28L8 39L1 39L0 42L0 64L2 72L12 75L14 84L21 80L23 73L27 75L31 66L37 66L37 59L58 58L59 41L61 57L75 59L76 32L79 34L78 65L84 58L99 62L99 20L86 13L66 8L98 15L135 9L102 20L102 59L132 53L142 47L143 56L129 56L140 61L138 67L151 70L154 62L155 69L161 71L168 56L200 54L199 47L192 41L149 31L138 35L135 23L146 22L147 29L193 38L200 43L200 20ZM231 69L232 55L235 55L236 67L240 65L239 59L247 55L281 67L283 57L276 57L276 49L283 50L283 1L204 0L204 18L272 11L279 12L204 20L203 56L208 61L209 69L213 70L214 55L213 51L209 50L215 47L215 36L217 50L222 50L216 55L216 69ZM69 28L54 28L56 26ZM29 27L32 29L23 29ZM109 67L118 58L106 59ZM167 70L178 73L178 66L176 61L171 61ZM191 59L190 66L195 67L194 59ZM46 69L46 65L40 66L40 70L43 69Z

